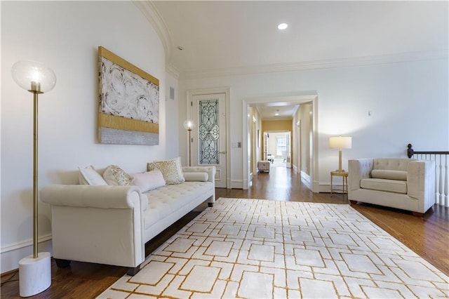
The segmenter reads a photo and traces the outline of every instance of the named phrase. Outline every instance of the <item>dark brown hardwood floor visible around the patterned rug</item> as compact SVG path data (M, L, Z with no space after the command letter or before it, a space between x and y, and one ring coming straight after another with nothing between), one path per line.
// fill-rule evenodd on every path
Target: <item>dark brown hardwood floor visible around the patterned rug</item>
M347 204L342 194L314 194L301 182L300 176L288 168L274 167L269 173L254 176L249 190L216 189L216 197L267 199L279 201L309 201ZM145 246L147 255L177 230L196 217L206 204L201 204ZM449 275L449 208L434 206L417 218L410 212L392 208L357 204L353 207L383 230ZM95 298L126 273L126 268L92 263L72 262L58 268L52 260L52 284L48 290L29 298ZM11 280L10 280L11 279ZM1 275L1 298L20 298L18 271Z

